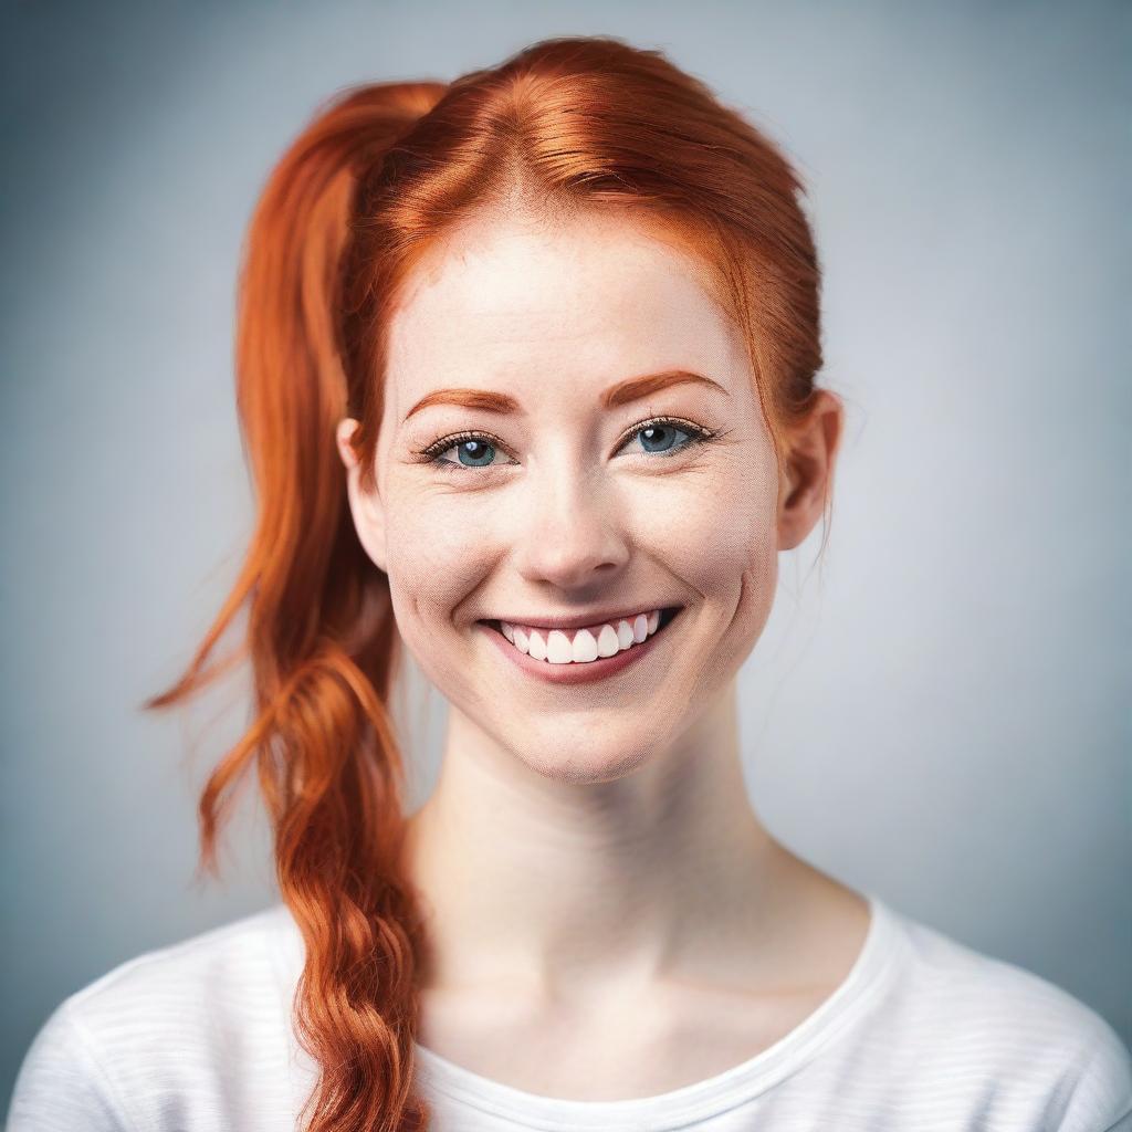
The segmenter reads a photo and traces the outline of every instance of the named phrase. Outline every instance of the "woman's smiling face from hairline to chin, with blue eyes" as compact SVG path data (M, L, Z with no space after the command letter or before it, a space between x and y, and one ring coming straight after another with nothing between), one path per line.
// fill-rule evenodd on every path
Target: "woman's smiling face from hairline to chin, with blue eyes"
M624 218L484 218L418 265L376 475L362 498L353 468L351 505L402 637L546 775L663 752L770 614L778 472L741 338Z

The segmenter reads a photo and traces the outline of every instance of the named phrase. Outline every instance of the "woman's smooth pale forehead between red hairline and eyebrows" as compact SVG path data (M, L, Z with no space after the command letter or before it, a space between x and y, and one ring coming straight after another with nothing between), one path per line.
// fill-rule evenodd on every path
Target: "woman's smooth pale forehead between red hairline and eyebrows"
M729 370L738 336L700 272L616 216L461 229L406 280L389 328L391 408L452 385L525 400L668 367Z

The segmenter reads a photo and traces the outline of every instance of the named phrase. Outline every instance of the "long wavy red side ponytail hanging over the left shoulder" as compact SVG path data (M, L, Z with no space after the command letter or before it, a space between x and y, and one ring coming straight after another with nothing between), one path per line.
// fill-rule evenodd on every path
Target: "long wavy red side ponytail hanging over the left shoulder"
M387 703L398 636L388 580L351 524L335 426L348 412L340 311L359 179L437 101L439 84L348 92L294 142L251 220L239 288L237 396L258 525L170 706L250 653L255 722L199 800L200 865L256 764L276 875L306 943L301 1045L321 1074L307 1132L426 1126L411 1096L421 958L400 868L404 765ZM206 669L247 604L245 648Z

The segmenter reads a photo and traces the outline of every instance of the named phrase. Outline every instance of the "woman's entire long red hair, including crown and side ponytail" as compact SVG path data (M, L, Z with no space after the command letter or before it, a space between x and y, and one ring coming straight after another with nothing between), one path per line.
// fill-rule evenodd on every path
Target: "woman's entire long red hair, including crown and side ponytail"
M517 195L516 195L517 194ZM378 83L323 108L272 172L240 277L238 405L258 506L239 578L172 705L250 659L254 722L199 800L201 865L252 764L306 964L295 1030L319 1066L307 1132L427 1126L413 1092L419 902L402 863L404 763L387 576L363 551L335 444L372 487L389 314L420 256L516 199L625 209L693 257L747 342L782 469L821 368L820 271L777 147L660 52L547 40L451 84ZM247 607L246 635L208 660Z

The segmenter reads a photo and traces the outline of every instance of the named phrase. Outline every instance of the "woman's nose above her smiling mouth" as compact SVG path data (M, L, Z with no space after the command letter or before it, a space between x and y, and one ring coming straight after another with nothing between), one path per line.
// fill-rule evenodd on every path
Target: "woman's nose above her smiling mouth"
M555 462L532 469L516 563L534 585L576 591L606 585L629 556L625 503L598 470Z

